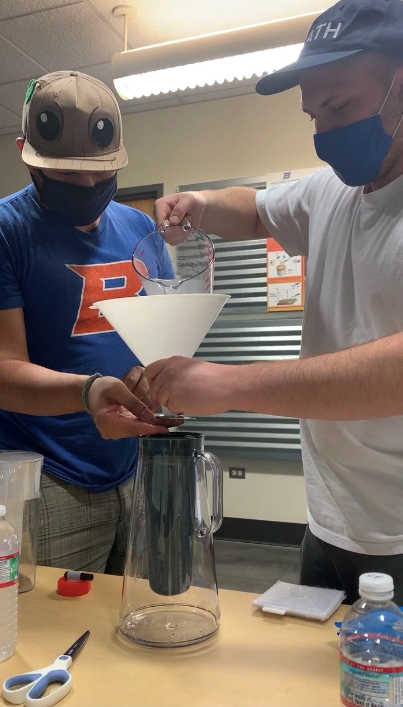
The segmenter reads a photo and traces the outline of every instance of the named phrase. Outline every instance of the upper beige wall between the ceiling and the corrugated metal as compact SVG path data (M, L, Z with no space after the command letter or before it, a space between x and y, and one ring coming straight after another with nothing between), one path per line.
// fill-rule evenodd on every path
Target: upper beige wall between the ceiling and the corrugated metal
M313 167L312 134L296 89L124 115L129 164L119 187L162 182L169 194L181 184ZM15 139L0 136L0 197L29 182Z

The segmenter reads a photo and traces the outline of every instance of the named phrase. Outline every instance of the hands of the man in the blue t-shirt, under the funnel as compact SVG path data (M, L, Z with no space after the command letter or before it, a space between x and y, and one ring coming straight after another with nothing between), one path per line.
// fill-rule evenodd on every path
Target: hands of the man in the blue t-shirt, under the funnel
M148 384L143 373L132 368L124 380L106 375L97 378L90 387L88 407L100 435L104 439L117 440L167 433L168 428L159 423L145 404L150 398L148 391L145 392ZM131 387L142 395L142 399L133 395Z

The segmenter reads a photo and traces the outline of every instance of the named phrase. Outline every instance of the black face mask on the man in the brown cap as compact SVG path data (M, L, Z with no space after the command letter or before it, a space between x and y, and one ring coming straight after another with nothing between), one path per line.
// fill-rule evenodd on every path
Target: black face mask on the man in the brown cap
M117 189L116 173L93 187L82 187L68 182L49 179L42 170L37 170L42 184L31 173L32 182L40 195L41 203L54 214L64 218L71 226L90 226L114 198Z

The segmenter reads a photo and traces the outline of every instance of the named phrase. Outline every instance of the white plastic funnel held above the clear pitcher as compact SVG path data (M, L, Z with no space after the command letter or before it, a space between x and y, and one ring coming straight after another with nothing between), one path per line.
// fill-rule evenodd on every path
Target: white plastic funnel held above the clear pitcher
M196 353L229 295L149 295L95 302L143 366Z

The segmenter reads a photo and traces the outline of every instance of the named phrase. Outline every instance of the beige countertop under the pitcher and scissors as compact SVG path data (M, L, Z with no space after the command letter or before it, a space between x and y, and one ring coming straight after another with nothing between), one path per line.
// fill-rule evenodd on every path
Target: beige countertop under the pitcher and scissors
M345 607L321 624L263 614L251 605L255 595L222 590L221 630L211 643L140 648L116 634L121 577L95 575L88 595L68 598L56 593L62 573L38 567L35 589L19 595L18 648L0 663L1 684L49 665L90 629L61 707L339 705L335 621Z

